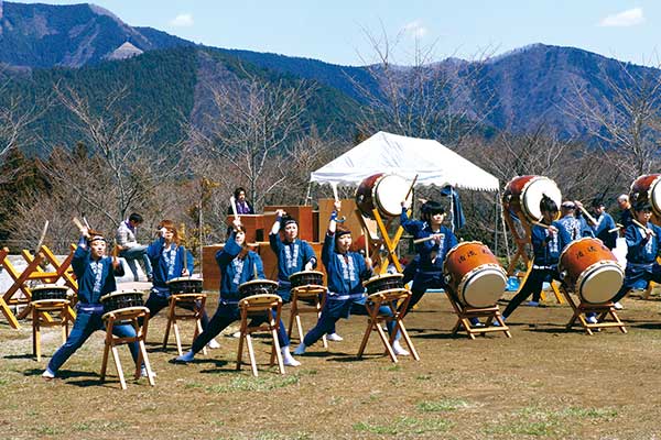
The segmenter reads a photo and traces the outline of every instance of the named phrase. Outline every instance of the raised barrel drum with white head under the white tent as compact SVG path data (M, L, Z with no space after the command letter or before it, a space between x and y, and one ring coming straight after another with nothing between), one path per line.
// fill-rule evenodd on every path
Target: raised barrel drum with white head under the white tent
M356 205L366 217L373 218L377 209L383 217L398 217L402 213L402 200L407 197L411 183L394 174L375 174L360 183L356 190ZM409 194L408 202L413 199Z

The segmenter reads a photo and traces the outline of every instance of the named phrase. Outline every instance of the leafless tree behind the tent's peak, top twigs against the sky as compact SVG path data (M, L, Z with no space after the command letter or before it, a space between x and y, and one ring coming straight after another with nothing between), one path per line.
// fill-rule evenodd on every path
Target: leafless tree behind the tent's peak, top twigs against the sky
M486 52L474 62L452 56L438 61L435 43L425 46L416 38L411 64L401 65L395 52L402 34L389 38L383 30L379 36L364 33L376 61L362 58L373 84L353 80L366 103L360 109L362 133L387 130L454 144L478 130L492 111L496 95L488 91L483 75ZM473 109L476 101L484 107Z

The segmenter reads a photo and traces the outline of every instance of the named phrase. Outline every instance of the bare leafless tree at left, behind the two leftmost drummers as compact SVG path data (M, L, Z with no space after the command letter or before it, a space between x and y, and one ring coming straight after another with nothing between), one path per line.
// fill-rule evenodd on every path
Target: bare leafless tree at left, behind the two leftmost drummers
M68 188L72 201L96 211L101 221L121 221L181 172L181 142L153 142L156 124L127 111L127 87L113 89L102 102L90 102L71 87L54 90L88 150L56 152L46 172L55 185Z

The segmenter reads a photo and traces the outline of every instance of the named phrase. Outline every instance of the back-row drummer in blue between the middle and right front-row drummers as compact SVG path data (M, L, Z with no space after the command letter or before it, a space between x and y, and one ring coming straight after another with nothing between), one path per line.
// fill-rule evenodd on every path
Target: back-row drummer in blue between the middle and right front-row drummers
M283 239L280 240L280 230ZM299 239L299 223L283 209L275 210L275 221L269 233L271 250L278 257L278 295L283 302L291 300L291 286L289 278L301 271L312 271L317 266L314 250L304 240ZM342 341L343 338L333 328L326 338L329 341Z

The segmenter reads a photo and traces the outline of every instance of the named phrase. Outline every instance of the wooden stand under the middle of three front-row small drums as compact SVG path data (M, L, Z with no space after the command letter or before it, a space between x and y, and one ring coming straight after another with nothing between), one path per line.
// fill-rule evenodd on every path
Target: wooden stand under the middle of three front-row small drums
M280 343L278 342L278 329L280 328L282 298L280 298L278 295L270 294L251 295L239 301L239 309L241 310L241 327L239 330L241 336L239 338L239 352L237 354L237 371L241 370L243 342L247 342L252 375L257 377L257 361L254 360L251 334L257 331L269 331L272 338L271 361L269 366L273 366L277 359L280 374L284 374L284 363L282 362L282 353L280 352ZM275 311L275 317L273 317L273 311ZM248 317L254 318L256 315L266 317L267 322L256 327L248 327Z

